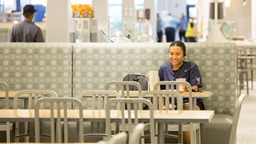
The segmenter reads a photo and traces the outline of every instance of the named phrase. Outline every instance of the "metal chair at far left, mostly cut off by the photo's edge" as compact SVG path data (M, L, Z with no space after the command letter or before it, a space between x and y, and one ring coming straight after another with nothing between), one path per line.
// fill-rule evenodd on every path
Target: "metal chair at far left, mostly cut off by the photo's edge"
M9 103L9 86L6 82L0 81L0 89L5 91L5 108L10 108ZM6 142L10 143L10 131L12 130L12 123L10 122L0 122L0 131L6 131Z

